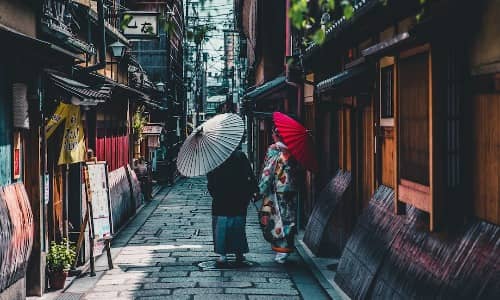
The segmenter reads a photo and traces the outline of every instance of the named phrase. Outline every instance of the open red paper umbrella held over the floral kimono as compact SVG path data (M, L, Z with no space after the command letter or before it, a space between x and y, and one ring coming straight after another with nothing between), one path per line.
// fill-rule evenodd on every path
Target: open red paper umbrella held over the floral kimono
M274 125L293 157L306 169L318 171L314 144L310 131L289 116L273 113Z

